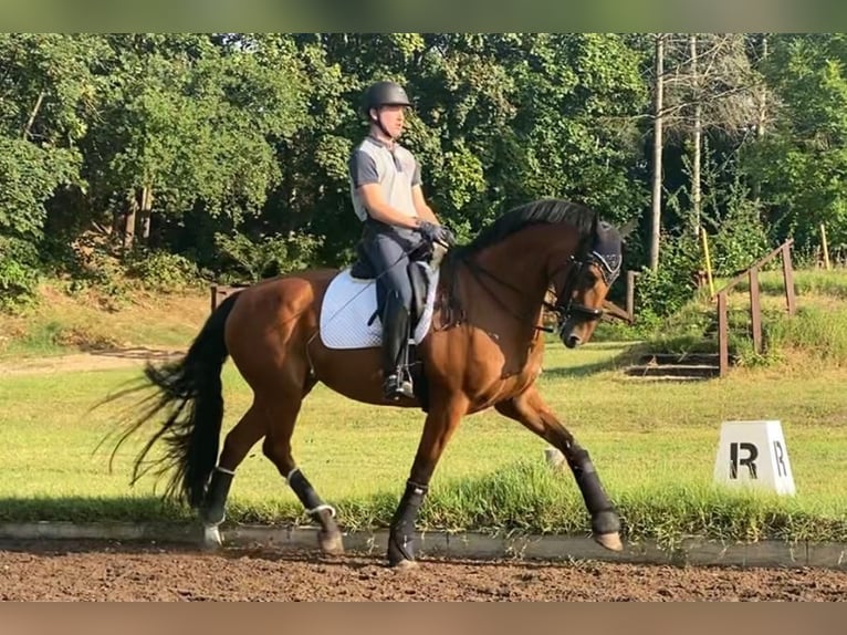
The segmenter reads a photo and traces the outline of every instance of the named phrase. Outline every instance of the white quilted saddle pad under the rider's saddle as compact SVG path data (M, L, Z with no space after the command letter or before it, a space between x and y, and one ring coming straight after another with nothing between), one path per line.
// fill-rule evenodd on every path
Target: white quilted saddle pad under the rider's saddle
M438 288L439 270L430 278L427 305L412 333L416 344L426 337L432 323L432 305ZM359 280L343 270L330 282L321 306L321 342L327 348L372 348L383 344L383 323L376 312L376 282Z

